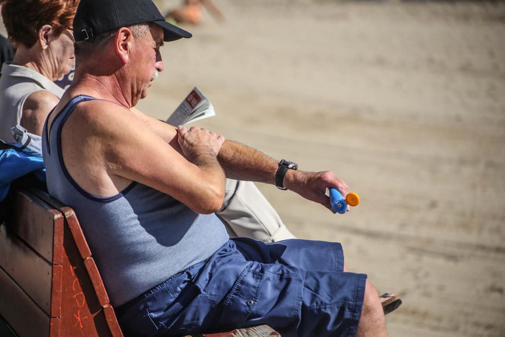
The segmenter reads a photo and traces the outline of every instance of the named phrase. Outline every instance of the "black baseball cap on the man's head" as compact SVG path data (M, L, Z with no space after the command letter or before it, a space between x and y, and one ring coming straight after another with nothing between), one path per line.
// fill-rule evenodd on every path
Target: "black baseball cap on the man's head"
M149 22L163 28L164 41L191 37L191 33L168 23L152 0L81 0L74 18L74 39L83 41L114 29Z

